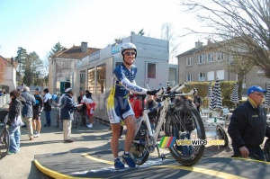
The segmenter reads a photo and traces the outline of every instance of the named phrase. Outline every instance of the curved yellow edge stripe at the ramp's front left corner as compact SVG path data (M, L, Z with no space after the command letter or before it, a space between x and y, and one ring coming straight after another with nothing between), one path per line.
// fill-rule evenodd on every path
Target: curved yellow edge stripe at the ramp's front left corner
M75 176L63 175L63 174L60 174L60 173L58 173L56 171L50 170L49 168L41 166L37 159L34 159L34 163L37 166L37 168L40 170L40 172L42 172L43 174L49 175L49 176L51 176L53 178L58 178L58 179L86 179L84 177L75 177Z

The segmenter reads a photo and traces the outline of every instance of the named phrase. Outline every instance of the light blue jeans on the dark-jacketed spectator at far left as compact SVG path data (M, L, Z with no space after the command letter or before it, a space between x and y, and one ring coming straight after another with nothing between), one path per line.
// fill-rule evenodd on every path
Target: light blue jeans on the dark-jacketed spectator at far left
M9 151L10 152L19 152L20 151L20 138L21 138L21 129L20 126L9 126Z

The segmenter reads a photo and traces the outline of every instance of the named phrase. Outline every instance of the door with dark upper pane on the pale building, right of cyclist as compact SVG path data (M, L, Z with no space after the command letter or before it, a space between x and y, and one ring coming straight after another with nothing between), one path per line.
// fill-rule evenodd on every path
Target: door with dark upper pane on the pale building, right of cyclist
M157 89L157 63L146 62L145 88Z

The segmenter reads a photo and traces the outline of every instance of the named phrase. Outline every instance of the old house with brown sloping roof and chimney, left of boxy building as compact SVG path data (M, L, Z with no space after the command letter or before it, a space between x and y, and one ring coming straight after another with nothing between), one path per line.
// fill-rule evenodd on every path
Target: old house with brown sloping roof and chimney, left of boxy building
M73 46L69 49L62 49L49 58L49 93L62 94L64 85L71 83L76 88L76 63L91 55L99 49L88 48L87 42L81 46ZM79 89L79 88L78 88Z

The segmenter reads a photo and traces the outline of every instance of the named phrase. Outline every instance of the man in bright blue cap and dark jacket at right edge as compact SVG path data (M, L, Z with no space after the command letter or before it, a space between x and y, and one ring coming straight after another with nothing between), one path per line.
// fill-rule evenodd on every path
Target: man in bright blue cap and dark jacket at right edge
M230 117L228 133L234 157L257 155L265 160L260 145L265 137L270 137L270 127L266 124L266 112L262 108L266 90L258 85L247 89L247 102L238 106Z

